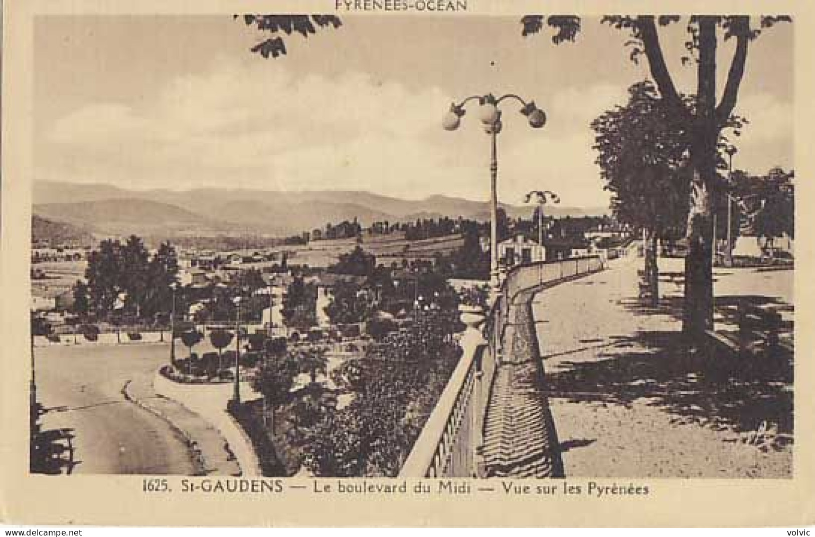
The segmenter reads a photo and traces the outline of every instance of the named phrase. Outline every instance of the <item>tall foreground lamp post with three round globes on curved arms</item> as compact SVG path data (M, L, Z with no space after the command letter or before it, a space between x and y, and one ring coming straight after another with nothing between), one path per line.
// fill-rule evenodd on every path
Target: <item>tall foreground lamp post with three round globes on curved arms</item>
M501 122L500 103L506 99L513 99L522 104L521 113L526 116L533 129L540 129L546 123L546 114L535 106L534 101L526 102L515 94L505 94L496 98L493 94L472 95L465 98L460 103L452 103L450 111L444 117L443 127L446 130L456 130L461 123L461 117L465 115L465 105L472 101L478 101L480 105L478 118L481 120L484 130L490 136L490 286L493 298L496 297L500 289L500 279L498 272L498 194L496 183L498 181L498 156L497 138L503 123Z

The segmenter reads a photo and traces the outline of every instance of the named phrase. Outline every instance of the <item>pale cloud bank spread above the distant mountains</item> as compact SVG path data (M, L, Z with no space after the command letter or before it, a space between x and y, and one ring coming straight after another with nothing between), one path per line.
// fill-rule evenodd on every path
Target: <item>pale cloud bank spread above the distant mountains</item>
M588 124L625 98L619 85L562 88L547 100L548 124L540 130L508 107L499 140L502 199L518 203L526 190L546 187L567 205L607 203ZM293 76L285 63L220 61L175 77L133 107L92 104L56 120L37 150L38 171L130 188L486 199L489 138L472 110L456 132L441 129L451 101L437 87L411 90L362 72ZM751 129L761 125L758 139L789 132L782 103L742 103L755 116Z

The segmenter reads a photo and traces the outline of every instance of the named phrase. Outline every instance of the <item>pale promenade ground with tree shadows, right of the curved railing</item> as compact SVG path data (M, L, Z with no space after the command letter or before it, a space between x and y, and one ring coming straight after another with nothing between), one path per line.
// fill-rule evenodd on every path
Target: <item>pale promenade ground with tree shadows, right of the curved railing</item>
M637 299L641 264L617 260L535 297L545 392L566 477L791 477L791 378L782 368L683 353L681 286L663 282L668 296L660 308L644 308ZM660 269L681 265L660 260ZM717 291L727 293L765 277L774 284L747 292L775 293L784 287L778 278L791 278L752 269L717 273ZM726 284L729 277L738 282ZM785 293L768 298L791 297Z

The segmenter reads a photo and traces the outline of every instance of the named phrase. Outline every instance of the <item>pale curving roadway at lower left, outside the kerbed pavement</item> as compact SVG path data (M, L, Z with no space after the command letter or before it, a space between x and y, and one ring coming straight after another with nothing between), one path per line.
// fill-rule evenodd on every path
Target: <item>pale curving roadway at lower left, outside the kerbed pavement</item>
M168 345L34 349L42 430L73 429L71 474L193 474L191 453L166 421L127 401L126 382L155 373ZM64 456L67 459L67 456Z

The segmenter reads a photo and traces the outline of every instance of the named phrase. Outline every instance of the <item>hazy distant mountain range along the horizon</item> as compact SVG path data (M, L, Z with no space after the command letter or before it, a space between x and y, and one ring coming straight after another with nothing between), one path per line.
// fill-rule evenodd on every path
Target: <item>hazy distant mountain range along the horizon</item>
M399 199L355 190L126 190L105 184L37 181L33 214L101 235L291 235L326 223L462 216L489 218L487 203L436 195ZM529 216L530 206L504 205L509 216ZM554 216L597 216L606 207L548 206Z

